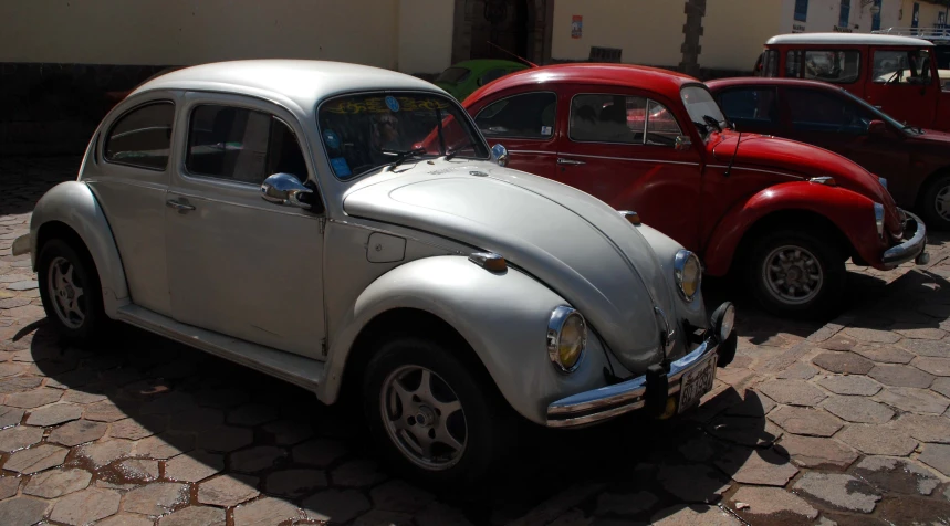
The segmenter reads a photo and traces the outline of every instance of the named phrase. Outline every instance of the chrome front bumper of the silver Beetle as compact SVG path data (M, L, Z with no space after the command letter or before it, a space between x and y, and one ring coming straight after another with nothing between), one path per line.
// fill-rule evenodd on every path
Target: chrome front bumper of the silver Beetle
M729 345L735 345L734 334L728 338ZM709 337L692 353L670 364L666 374L668 389L666 392L655 392L662 396L662 402L680 390L682 376L702 364L706 358L720 350L720 343ZM723 349L723 354L734 355L734 349ZM732 356L728 360L731 361ZM638 376L614 386L602 387L557 400L547 406L549 428L570 428L607 420L637 409L647 403L648 375Z

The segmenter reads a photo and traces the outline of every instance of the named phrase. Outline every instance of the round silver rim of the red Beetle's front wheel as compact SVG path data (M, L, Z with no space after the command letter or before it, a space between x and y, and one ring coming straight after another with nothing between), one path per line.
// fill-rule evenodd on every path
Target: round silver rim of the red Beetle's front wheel
M780 302L801 305L815 298L824 275L817 257L801 246L779 246L762 265L762 280Z

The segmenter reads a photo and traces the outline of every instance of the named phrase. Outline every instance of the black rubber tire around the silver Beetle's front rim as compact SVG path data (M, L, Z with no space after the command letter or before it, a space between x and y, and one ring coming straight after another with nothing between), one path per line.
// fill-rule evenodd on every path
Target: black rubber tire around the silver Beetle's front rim
M451 393L461 403L461 411L456 411L450 418L458 424L457 414L462 413L464 446L458 460L450 466L438 470L420 466L408 453L404 453L396 442L398 439L392 436L388 431L388 423L384 419L389 415L387 413L387 417L384 417L382 402L384 383L390 375L407 366L421 367L434 372L436 376L432 378L437 377L436 381L441 380L448 385ZM509 428L508 408L502 404L497 388L486 385L483 376L487 375L479 374L481 365L473 366L456 357L447 345L409 336L399 336L379 345L366 366L363 406L367 425L384 459L407 478L431 487L471 485L484 476L502 451L502 443L507 440L505 430ZM409 374L409 377L411 375ZM411 385L411 381L409 383ZM446 391L442 389L442 392ZM413 398L417 398L415 393ZM401 403L398 406L401 408ZM411 417L409 411L396 412L399 417L390 421L406 418L407 421L415 422L415 417ZM418 428L416 430L419 431Z

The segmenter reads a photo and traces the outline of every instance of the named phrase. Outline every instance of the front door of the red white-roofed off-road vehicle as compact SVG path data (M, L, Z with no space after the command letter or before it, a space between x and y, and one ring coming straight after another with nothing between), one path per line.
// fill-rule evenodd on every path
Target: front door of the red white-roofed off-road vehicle
M940 82L928 49L874 49L865 101L897 120L933 127Z

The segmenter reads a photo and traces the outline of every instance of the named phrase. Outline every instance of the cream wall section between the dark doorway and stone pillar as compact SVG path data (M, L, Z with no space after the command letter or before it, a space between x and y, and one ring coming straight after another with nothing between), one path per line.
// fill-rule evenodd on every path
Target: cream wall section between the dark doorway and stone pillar
M761 0L755 0L761 1ZM682 0L556 0L551 56L587 60L591 46L620 48L633 64L676 66L682 61ZM571 18L584 17L581 39L571 38Z

